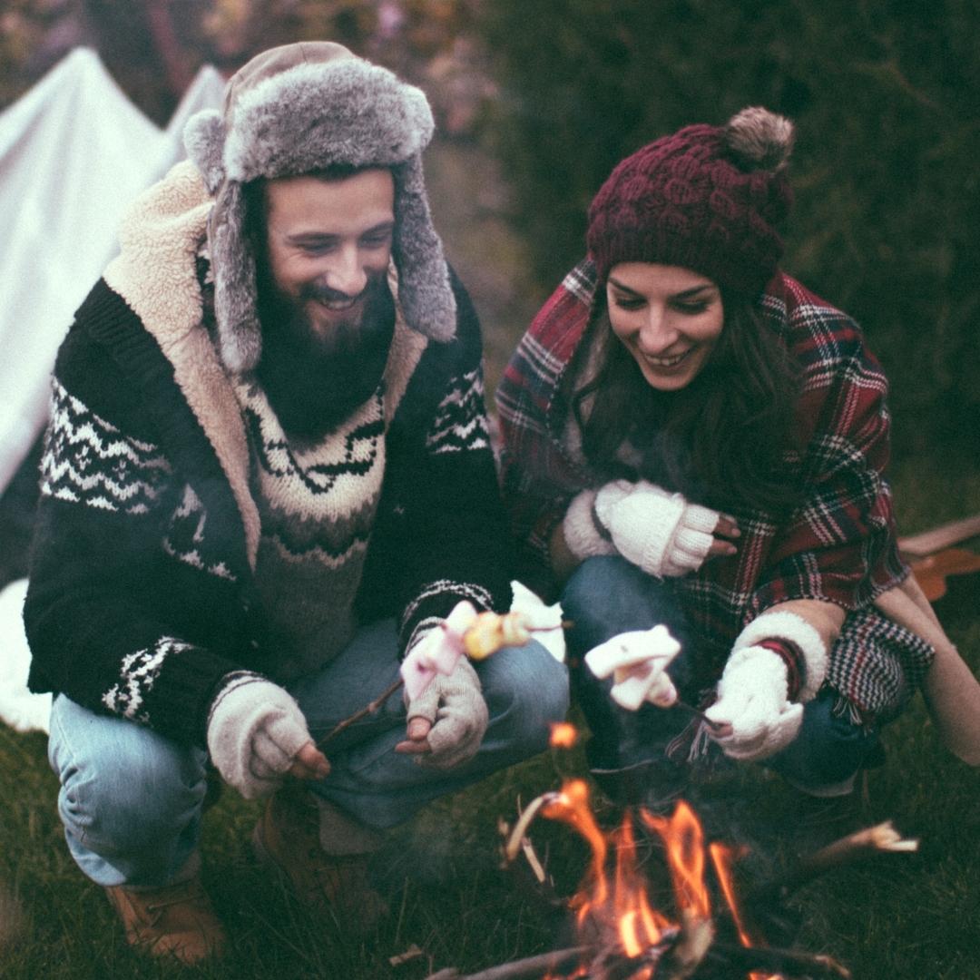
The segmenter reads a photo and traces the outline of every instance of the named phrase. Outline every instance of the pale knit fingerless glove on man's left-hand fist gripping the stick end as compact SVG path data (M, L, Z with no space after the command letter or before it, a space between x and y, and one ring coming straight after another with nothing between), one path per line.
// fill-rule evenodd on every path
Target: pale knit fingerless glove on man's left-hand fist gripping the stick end
M211 760L246 800L278 789L296 753L310 740L299 705L258 674L233 675L208 716Z

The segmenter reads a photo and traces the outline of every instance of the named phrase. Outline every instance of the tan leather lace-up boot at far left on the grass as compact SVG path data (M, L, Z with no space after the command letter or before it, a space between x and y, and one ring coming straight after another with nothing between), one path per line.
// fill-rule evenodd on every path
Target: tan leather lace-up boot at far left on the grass
M117 885L107 888L106 894L123 919L130 946L150 956L174 956L188 966L221 956L224 929L199 873L166 888L134 890Z

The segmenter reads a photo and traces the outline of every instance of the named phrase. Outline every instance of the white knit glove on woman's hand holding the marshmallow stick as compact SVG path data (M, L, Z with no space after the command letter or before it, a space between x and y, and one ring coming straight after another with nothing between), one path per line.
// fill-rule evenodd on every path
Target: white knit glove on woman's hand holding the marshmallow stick
M803 705L789 701L786 662L765 647L736 650L725 664L717 694L705 713L731 726L731 734L714 736L730 759L768 759L800 731Z

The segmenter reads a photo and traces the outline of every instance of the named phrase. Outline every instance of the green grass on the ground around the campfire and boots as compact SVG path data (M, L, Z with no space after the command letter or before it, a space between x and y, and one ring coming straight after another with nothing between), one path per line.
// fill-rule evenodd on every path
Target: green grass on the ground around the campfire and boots
M980 512L980 476L970 467L916 461L897 469L895 482L904 531ZM980 668L976 599L975 585L959 583L952 602L940 606L974 671ZM980 770L942 749L921 700L887 729L885 742L888 761L870 773L862 822L892 818L921 839L921 850L849 866L809 885L793 904L797 945L838 957L858 980L980 978ZM246 843L257 805L225 792L205 817L202 850L230 951L221 963L186 971L126 948L100 889L69 858L44 736L0 726L0 977L420 980L450 965L472 972L544 952L569 937L554 914L499 868L497 821L513 819L519 800L557 787L563 774L582 771L578 751L531 760L399 828L374 869L392 911L364 940L333 923L310 921L257 869ZM800 799L778 780L749 768L706 802L712 824L748 814L768 828L758 862L772 869L792 857ZM606 825L615 815L608 805L600 808ZM567 828L548 821L539 820L533 836L567 894L585 867L584 848ZM424 956L390 964L389 957L413 944Z

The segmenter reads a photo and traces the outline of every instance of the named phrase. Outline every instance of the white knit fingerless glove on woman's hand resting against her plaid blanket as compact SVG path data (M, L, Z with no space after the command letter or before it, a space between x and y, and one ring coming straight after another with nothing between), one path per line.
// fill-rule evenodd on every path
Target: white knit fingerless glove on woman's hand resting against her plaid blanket
M659 577L701 567L719 516L646 480L607 483L596 495L595 514L627 562Z

